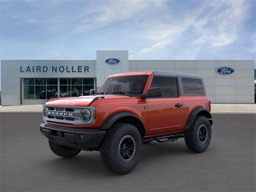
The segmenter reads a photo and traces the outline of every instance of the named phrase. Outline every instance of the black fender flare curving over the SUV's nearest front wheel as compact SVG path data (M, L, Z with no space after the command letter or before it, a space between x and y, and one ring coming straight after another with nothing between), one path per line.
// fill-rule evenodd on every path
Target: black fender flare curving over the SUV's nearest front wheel
M103 124L102 126L100 127L101 130L106 130L106 129L109 129L112 124L114 124L114 122L116 122L117 120L119 120L120 118L123 118L123 117L134 117L136 118L142 125L142 129L143 129L143 134L146 133L146 130L145 130L145 125L143 123L143 121L140 119L140 117L130 113L130 112L118 112L116 114L113 114L112 116L110 116Z

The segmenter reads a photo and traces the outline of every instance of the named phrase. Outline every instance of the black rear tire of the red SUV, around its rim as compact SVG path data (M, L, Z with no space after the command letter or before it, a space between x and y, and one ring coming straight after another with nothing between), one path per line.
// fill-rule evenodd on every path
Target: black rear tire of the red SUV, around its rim
M207 134L206 134L207 137L204 143L202 143L202 141L200 142L198 131L200 126L204 126L204 125L206 126L206 129L207 129ZM211 137L212 137L212 128L209 120L205 116L196 116L192 126L185 131L186 146L194 152L204 152L210 144Z

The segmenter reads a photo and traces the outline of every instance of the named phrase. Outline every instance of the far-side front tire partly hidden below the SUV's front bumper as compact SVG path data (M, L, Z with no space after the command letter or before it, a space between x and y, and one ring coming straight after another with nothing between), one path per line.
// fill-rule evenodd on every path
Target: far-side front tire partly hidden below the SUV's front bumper
M81 151L79 149L74 149L74 148L57 144L50 139L48 140L48 143L49 143L50 149L54 154L64 158L72 158L76 156L78 153L80 153Z

